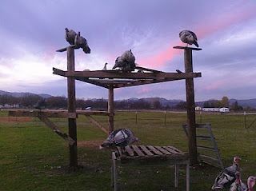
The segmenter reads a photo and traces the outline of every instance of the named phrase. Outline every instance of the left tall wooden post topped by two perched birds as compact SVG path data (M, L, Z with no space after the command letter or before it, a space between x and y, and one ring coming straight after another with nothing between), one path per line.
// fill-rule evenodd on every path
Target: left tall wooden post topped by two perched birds
M67 47L67 70L74 71L74 48ZM75 80L72 77L67 78L67 109L69 113L75 113ZM69 118L69 135L75 141L70 145L70 167L74 169L78 166L78 149L77 149L77 124L75 118Z

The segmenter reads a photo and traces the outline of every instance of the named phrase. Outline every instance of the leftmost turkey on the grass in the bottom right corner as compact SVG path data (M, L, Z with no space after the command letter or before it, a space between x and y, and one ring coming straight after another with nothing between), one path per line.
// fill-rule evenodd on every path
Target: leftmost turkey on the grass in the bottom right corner
M239 161L240 157L234 157L233 158L233 165L226 167L225 169L222 170L221 173L218 174L214 181L214 185L212 186L211 189L213 190L218 190L218 189L224 189L224 188L229 188L230 185L234 182L235 180L235 173L240 171L239 168Z

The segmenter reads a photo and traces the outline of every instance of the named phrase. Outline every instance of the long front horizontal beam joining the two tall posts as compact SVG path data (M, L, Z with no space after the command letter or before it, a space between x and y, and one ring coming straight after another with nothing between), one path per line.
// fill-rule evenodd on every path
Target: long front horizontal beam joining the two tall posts
M133 73L133 72L108 72L107 70L97 71L63 71L53 68L53 74L57 74L63 77L74 78L119 78L119 79L158 79L158 78L198 78L201 77L201 73Z

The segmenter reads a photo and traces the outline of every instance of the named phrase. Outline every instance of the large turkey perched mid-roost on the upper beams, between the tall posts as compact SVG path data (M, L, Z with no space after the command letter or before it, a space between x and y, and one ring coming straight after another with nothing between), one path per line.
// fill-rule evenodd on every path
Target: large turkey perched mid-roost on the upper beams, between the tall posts
M113 69L120 68L124 71L134 71L135 67L134 54L131 52L131 50L127 50L115 60Z

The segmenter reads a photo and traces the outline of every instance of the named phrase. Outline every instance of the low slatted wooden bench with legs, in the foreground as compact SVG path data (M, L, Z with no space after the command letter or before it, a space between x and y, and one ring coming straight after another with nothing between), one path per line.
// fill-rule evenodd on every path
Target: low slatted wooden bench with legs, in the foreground
M112 153L111 185L114 191L118 190L118 165L117 161L135 161L165 159L175 167L174 186L178 188L178 170L179 165L186 165L186 191L190 190L190 160L187 153L182 153L174 146L153 146L153 145L127 145L126 147L117 147Z

